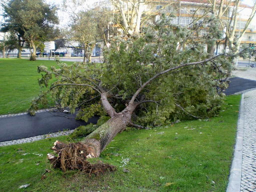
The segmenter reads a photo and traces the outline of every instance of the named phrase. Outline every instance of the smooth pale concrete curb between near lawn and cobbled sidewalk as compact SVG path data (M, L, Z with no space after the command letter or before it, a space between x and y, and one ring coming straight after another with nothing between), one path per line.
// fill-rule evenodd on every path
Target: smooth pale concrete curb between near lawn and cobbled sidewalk
M226 192L240 192L241 190L243 137L244 137L244 94L242 94L241 103L240 103L234 158L232 161L228 187Z

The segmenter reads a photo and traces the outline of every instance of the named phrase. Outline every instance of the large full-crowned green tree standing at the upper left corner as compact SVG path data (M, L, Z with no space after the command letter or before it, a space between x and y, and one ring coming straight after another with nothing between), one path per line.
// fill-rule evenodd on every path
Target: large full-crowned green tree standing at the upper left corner
M58 24L57 8L42 0L10 0L3 4L5 30L14 30L30 44L30 60L36 60L36 47L53 33Z

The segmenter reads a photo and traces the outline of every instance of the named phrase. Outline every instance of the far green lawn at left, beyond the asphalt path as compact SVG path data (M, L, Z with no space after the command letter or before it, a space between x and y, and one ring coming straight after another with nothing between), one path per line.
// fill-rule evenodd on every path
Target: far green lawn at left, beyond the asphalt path
M0 59L0 115L25 112L30 107L31 100L40 93L37 81L40 64L52 66L55 62Z

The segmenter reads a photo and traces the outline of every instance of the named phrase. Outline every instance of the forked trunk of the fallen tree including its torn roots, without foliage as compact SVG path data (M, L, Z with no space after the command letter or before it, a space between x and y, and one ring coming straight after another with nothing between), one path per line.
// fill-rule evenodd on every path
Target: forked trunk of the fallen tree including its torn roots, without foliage
M107 100L108 93L101 94L102 106L111 117L106 123L94 130L82 142L76 144L65 144L59 141L54 143L54 150L58 157L48 154L48 159L53 167L66 169L80 169L84 172L104 172L106 169L113 170L113 166L105 164L92 165L86 159L99 157L101 152L122 130L131 124L132 113L136 105L129 104L122 112L116 113ZM99 168L100 167L100 168ZM99 171L100 169L100 171ZM104 169L102 171L102 169Z

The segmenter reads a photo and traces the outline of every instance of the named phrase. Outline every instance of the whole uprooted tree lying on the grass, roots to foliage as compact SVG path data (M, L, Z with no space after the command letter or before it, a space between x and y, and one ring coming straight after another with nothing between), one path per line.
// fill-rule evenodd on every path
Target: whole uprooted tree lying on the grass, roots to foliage
M99 157L127 126L144 128L218 114L230 62L224 54L209 58L203 46L208 39L200 36L200 28L202 24L190 30L172 26L163 18L145 28L140 38L115 38L102 64L68 66L57 61L59 68L39 66L41 86L48 86L52 75L57 78L48 92L59 107L78 110L83 120L95 114L110 117L80 143L56 141L52 149L58 156L48 155L54 167L89 173L114 170L110 165L92 166L86 159ZM48 92L34 100L30 114L38 103L47 102Z

